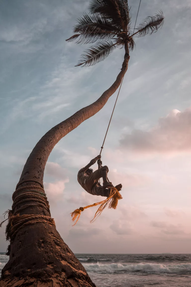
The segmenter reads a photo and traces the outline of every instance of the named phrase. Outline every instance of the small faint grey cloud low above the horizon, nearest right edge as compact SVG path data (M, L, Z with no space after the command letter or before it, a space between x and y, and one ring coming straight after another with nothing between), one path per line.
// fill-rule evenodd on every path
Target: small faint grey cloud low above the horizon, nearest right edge
M151 226L157 227L157 228L162 228L161 232L164 234L185 234L184 230L182 230L182 225L181 224L168 224L164 221L152 221Z

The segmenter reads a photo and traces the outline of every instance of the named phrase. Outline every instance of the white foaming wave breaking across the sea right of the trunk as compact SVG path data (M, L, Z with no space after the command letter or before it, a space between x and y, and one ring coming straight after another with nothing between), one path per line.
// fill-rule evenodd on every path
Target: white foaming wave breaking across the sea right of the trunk
M171 274L185 274L191 273L191 263L185 264L172 264L164 265L157 263L139 263L139 264L87 264L83 263L87 272L98 272L98 273L118 273L118 272L144 272L144 273L171 273Z

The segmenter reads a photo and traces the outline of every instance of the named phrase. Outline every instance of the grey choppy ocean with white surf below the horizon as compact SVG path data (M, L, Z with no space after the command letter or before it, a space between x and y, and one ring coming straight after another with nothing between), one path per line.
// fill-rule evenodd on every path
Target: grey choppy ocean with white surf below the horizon
M191 254L75 254L97 287L191 287ZM0 271L8 261L0 253Z

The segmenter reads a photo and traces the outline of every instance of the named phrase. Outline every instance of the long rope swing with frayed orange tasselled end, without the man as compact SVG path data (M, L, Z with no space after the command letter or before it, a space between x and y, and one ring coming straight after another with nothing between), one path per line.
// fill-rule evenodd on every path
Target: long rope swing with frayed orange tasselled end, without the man
M139 2L139 7L140 7L140 4L141 4L141 0L140 0L140 2ZM138 11L137 11L137 17L138 17L138 13L139 13L139 8L138 8ZM137 22L137 17L136 17L136 20L135 20L135 25L136 25L136 22ZM134 26L133 33L134 33L134 31L135 31L135 26ZM125 73L126 73L126 71L127 71L127 68L126 68L126 70L125 70ZM121 90L121 86L122 86L122 83L123 83L123 79L124 79L125 73L124 73L123 78L122 78L122 81L121 81L121 85L120 85L120 88L119 88L119 92L120 92L120 90ZM103 146L104 146L104 144L105 144L105 139L106 139L106 136L107 136L107 132L108 132L108 130L109 130L109 126L110 126L110 123L111 123L111 119L112 119L112 117L113 117L113 112L114 112L114 110L115 110L115 106L116 106L116 103L117 103L117 99L118 99L118 96L119 96L119 92L118 92L118 94L117 94L117 98L116 98L116 101L115 101L115 104L114 104L114 107L113 107L113 111L112 111L112 114L111 114L111 118L110 118L110 120L109 120L109 124L108 124L108 127L107 127L107 131L106 131L106 134L105 134L105 137L104 137L104 140L103 140L103 144L102 144L102 146L101 146L100 155L101 155L101 152L102 152L102 150L103 150ZM99 159L99 160L97 161L97 163L98 163L98 168L100 168L100 167L101 167L101 164L102 164L101 160ZM110 182L109 179L108 179L108 177L107 177L107 180L108 180L108 182ZM91 204L91 205L87 205L87 206L85 206L85 207L80 207L79 209L76 209L76 210L74 210L73 212L70 213L71 216L72 216L72 221L75 221L75 220L76 220L76 222L75 222L72 226L76 225L76 223L78 222L78 220L79 220L79 218L80 218L81 212L84 211L84 209L86 209L86 208L100 205L100 207L98 208L97 212L96 212L95 215L94 215L94 218L90 221L90 223L94 222L94 221L98 218L98 216L102 213L102 211L103 211L108 205L109 205L108 208L113 208L113 209L116 209L116 208L117 208L118 200L119 200L119 199L122 199L123 197L121 196L121 194L119 193L119 191L118 191L115 187L110 187L110 188L108 188L108 189L110 189L110 194L109 194L109 196L107 197L107 199L105 199L105 200L103 200L103 201L100 201L100 202L97 202L97 203L94 203L94 204Z

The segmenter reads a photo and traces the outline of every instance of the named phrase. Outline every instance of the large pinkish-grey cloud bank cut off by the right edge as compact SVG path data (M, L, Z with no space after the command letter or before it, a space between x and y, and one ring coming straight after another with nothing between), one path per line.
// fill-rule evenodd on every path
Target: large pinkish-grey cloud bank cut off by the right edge
M123 135L122 148L134 152L184 152L191 151L191 107L183 112L172 110L149 131L133 130Z

